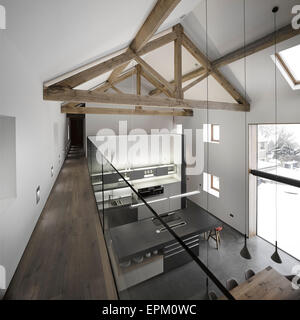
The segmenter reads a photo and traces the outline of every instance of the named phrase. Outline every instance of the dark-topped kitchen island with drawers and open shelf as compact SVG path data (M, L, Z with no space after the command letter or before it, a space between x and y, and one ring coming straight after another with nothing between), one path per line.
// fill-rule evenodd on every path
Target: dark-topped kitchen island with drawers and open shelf
M202 233L222 223L193 202L161 218L197 256ZM112 266L119 291L192 261L192 257L153 217L107 231Z

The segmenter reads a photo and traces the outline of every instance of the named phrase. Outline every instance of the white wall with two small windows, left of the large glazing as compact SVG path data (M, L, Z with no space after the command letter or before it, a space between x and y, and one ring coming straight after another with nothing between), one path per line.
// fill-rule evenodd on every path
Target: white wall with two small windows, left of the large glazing
M281 51L300 43L300 36L279 44ZM270 56L274 48L263 50L247 58L247 95L251 111L195 111L193 118L176 118L184 128L202 129L203 123L221 126L220 144L205 144L205 170L220 177L220 198L202 192L199 205L229 223L240 232L245 230L245 210L248 214L248 124L274 123L274 63ZM244 84L243 61L223 67L222 72L237 87ZM213 98L213 92L209 92ZM245 118L246 116L246 118ZM300 123L300 90L293 91L278 72L279 123ZM208 146L208 149L207 149ZM246 150L245 150L246 146ZM209 151L208 151L209 150ZM208 159L208 161L207 161ZM189 177L188 184L195 187L202 183L202 175ZM191 187L192 188L192 187ZM245 199L246 188L246 199ZM245 205L246 204L246 205ZM231 218L229 214L234 214Z

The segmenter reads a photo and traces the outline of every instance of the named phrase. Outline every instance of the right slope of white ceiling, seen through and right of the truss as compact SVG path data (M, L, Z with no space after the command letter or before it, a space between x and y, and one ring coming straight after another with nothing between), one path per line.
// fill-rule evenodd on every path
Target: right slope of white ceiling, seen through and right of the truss
M183 3L185 3L185 0L182 1ZM180 16L180 14L174 11L175 17L171 15L160 30L180 22L193 42L202 52L207 53L210 60L213 61L244 45L244 0L209 0L207 4L207 21L206 1L202 0L198 2L198 5L191 12L185 13L185 16ZM278 28L289 24L292 18L291 9L295 4L297 4L297 0L246 0L246 43L255 41L273 31L274 24L271 10L275 5L280 6L277 17ZM180 7L177 9L181 10ZM188 5L185 9L188 9ZM182 13L183 11L180 12ZM207 46L206 36L208 40ZM171 81L174 79L173 54L174 46L173 44L169 44L148 53L143 58L153 68L158 70L163 77ZM128 68L134 65L135 63L132 63ZM199 67L200 64L195 58L183 49L183 74ZM225 66L221 70L227 79L243 93L245 71L243 60L235 62L234 65ZM117 87L126 92L134 92L134 78L132 77L124 83L118 84ZM184 86L190 82L184 83ZM147 81L144 81L143 84L145 94L149 88L153 89L153 86ZM207 99L207 93L208 99L212 101L235 102L228 92L212 77L189 89L185 93L185 98Z

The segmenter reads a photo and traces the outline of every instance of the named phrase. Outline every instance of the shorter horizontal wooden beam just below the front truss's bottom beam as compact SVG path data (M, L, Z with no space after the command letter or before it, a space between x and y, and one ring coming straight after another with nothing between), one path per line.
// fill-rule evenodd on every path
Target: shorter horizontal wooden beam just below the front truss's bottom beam
M67 114L128 114L128 115L152 115L152 116L174 116L174 117L192 117L193 110L144 110L144 109L121 109L121 108L72 108L61 107L62 113Z

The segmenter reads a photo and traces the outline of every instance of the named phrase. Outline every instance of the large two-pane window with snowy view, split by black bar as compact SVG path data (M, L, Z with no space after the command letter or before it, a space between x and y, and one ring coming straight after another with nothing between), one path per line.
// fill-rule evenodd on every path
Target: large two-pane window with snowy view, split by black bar
M300 180L300 124L258 125L257 170ZM257 177L257 234L300 259L300 189Z

